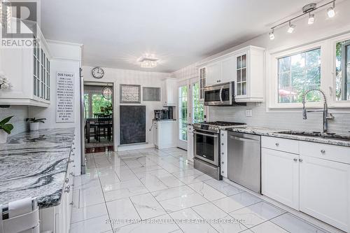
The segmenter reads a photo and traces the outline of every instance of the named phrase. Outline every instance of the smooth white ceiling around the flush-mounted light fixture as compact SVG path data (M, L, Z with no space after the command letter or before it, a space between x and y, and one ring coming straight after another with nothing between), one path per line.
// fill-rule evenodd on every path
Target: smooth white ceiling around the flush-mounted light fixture
M307 0L43 0L45 38L83 43L83 64L173 72L269 31ZM160 58L141 69L145 52Z

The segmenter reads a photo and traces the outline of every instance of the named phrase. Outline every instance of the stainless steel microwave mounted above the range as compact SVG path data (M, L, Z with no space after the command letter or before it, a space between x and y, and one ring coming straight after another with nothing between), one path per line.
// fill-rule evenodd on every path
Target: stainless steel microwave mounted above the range
M204 105L206 106L246 106L235 101L235 82L204 87Z

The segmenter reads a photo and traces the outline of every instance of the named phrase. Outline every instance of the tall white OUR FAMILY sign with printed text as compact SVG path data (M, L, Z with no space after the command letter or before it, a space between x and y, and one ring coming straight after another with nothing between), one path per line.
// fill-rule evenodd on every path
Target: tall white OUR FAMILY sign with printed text
M56 122L74 122L74 73L57 72Z

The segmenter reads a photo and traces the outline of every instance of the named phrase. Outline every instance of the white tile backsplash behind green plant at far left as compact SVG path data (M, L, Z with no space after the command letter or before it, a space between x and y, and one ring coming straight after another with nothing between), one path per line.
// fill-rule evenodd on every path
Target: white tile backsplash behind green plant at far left
M28 122L25 121L28 118L28 107L27 106L10 106L10 108L0 108L0 120L13 115L10 123L13 125L11 136L21 132L25 132L29 128Z

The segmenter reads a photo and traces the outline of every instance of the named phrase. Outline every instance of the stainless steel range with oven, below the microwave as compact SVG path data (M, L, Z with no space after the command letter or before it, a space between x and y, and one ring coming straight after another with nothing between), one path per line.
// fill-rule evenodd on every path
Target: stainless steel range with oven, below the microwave
M203 122L193 124L193 143L195 169L221 180L220 173L220 130L232 127L245 127L237 122Z

